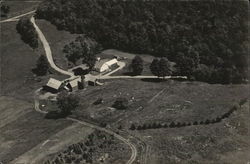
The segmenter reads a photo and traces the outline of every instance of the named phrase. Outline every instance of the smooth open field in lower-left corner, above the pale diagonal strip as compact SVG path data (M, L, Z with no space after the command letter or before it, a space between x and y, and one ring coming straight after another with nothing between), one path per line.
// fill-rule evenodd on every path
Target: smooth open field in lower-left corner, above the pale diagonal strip
M71 124L67 120L46 120L33 104L0 97L0 159L9 163Z

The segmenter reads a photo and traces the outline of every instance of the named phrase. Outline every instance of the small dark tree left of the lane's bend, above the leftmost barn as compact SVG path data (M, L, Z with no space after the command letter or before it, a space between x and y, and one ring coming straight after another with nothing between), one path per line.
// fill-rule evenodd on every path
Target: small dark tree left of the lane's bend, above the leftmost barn
M44 55L41 55L36 63L35 73L39 76L46 75L49 69L49 63Z

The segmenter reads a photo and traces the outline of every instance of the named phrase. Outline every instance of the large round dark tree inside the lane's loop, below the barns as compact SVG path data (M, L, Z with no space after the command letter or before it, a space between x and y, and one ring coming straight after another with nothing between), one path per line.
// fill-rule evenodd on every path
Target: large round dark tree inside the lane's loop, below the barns
M73 94L68 94L66 91L62 91L57 96L57 106L61 110L62 115L69 115L71 111L79 106L79 98Z

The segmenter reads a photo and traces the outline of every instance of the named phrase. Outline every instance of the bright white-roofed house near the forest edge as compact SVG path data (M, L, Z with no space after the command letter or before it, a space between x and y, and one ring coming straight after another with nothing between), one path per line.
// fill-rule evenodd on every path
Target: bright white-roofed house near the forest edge
M105 72L111 69L111 66L117 65L118 61L117 59L103 59L98 62L96 62L95 69L98 72Z

